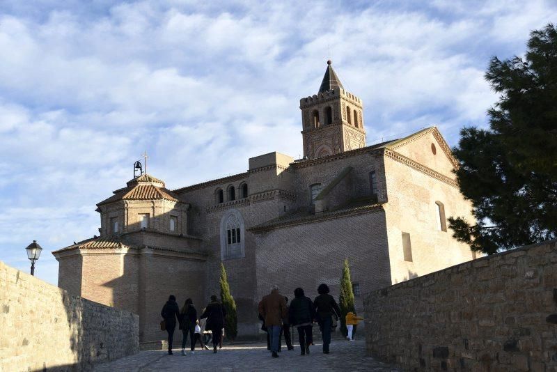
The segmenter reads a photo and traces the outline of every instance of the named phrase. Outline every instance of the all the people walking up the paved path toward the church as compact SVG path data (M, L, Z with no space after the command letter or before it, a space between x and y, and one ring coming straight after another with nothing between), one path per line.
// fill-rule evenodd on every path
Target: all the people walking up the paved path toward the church
M311 300L304 294L304 289L294 290L294 300L288 306L288 297L281 295L278 286L271 288L271 293L262 298L258 304L259 318L262 320L261 329L267 332L267 350L272 357L278 357L281 352L281 339L284 335L288 350L294 350L290 336L290 325L297 328L300 344L300 354L308 355L313 344L313 323L319 325L323 339L323 353L329 354L331 344L331 328L334 320L340 318L340 309L333 296L329 294L329 286L320 284L317 288L317 297ZM211 296L211 301L203 310L200 317L191 298L188 298L180 309L176 297L171 295L161 311L163 318L161 329L168 332L168 354L172 355L172 341L176 325L182 330L182 355L186 355L186 343L189 335L191 353L199 342L201 348L207 348L210 339L205 339L203 334L212 335L213 352L217 346L222 348L224 319L226 309L217 300L216 295ZM354 313L349 312L345 318L347 326L347 339L354 341L353 329L359 320L363 320Z

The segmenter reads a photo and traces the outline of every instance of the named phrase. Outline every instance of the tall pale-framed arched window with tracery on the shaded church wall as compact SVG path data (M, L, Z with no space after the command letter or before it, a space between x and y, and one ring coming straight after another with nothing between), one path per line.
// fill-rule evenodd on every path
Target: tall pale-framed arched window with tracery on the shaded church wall
M221 259L244 257L244 219L238 210L229 210L221 219Z

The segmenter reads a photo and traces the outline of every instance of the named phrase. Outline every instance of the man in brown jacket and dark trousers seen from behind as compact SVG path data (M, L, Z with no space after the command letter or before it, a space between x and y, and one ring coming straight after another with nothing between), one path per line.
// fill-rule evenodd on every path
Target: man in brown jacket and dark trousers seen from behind
M265 326L271 339L271 352L274 358L278 358L278 336L281 334L283 318L288 313L286 301L278 286L271 287L271 293L263 297L259 303L259 313L265 319Z

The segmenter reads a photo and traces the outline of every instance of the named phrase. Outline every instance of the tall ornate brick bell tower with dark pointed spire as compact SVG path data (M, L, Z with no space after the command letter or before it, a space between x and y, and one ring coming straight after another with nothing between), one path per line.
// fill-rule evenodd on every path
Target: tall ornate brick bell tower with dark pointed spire
M331 61L319 91L300 100L304 157L315 159L366 146L363 104L345 91Z

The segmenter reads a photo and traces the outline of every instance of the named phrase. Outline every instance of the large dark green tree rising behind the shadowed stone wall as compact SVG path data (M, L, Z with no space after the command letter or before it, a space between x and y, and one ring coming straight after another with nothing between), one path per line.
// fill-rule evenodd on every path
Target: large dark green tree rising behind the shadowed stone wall
M453 153L477 224L450 218L457 240L487 254L557 236L557 29L533 31L524 57L493 57L499 101L489 130L464 127Z

